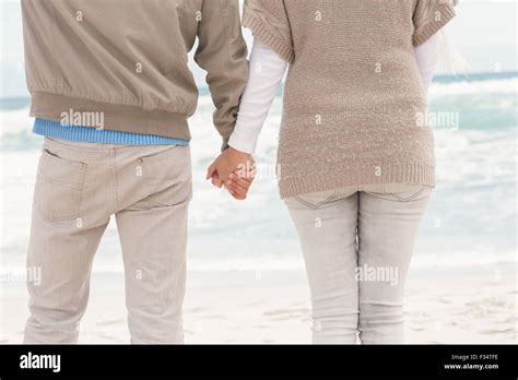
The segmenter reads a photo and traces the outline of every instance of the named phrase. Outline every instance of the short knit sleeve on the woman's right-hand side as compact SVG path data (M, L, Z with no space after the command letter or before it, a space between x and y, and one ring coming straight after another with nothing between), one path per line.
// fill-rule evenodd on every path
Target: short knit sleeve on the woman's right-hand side
M419 46L456 16L458 0L416 0L413 15L413 45Z

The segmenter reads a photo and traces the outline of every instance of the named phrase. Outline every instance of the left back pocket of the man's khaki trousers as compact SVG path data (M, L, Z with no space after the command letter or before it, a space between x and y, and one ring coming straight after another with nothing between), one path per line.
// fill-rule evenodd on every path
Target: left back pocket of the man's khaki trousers
M79 217L85 163L59 157L44 149L38 166L34 205L50 221Z

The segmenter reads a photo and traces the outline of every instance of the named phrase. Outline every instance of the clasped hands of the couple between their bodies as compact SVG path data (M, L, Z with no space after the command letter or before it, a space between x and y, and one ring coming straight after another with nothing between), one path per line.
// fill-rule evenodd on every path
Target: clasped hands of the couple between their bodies
M207 179L216 188L225 187L237 200L245 200L254 181L255 162L250 154L228 147L209 167Z

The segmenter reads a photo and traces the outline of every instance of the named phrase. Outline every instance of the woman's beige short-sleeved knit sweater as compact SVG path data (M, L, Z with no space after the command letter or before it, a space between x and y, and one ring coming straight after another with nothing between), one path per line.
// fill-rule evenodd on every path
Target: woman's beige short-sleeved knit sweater
M247 0L244 25L287 60L282 198L372 183L435 186L417 46L456 0Z

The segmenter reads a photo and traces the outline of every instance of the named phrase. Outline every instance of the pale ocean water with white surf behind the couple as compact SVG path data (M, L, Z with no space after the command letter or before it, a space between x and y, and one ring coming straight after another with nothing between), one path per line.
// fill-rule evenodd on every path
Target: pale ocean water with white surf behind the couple
M431 88L434 115L454 116L435 129L437 189L423 221L413 265L516 264L516 143L518 74L439 76ZM28 99L0 100L1 262L23 269L42 138L33 135ZM213 106L202 92L191 120L195 197L189 219L191 271L267 271L304 268L295 229L274 178L281 121L278 97L261 134L259 176L245 202L204 180L219 153ZM454 112L454 114L451 114ZM456 119L458 117L458 119ZM96 254L97 272L122 271L114 223Z

